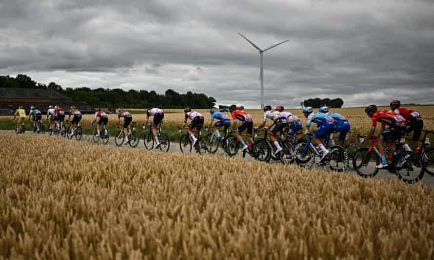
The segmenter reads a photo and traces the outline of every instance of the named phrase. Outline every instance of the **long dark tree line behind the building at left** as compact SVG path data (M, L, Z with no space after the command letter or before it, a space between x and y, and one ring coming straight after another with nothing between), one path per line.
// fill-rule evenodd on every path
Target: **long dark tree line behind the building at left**
M155 91L147 90L129 90L122 89L90 89L88 87L66 88L55 82L48 85L38 83L31 77L18 74L17 77L0 76L0 87L3 88L32 88L55 90L71 98L73 102L85 102L90 106L101 106L107 108L128 107L128 108L185 108L192 107L196 109L212 108L216 104L216 99L203 93L192 93L191 91L180 94L174 90L168 89L164 94L158 94Z

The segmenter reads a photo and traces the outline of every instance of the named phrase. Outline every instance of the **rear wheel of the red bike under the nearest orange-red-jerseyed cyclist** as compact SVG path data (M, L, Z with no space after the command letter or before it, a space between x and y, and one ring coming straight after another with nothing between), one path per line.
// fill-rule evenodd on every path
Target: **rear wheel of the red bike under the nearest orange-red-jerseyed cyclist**
M422 179L424 167L419 155L413 151L405 151L396 155L392 162L399 180L414 183Z

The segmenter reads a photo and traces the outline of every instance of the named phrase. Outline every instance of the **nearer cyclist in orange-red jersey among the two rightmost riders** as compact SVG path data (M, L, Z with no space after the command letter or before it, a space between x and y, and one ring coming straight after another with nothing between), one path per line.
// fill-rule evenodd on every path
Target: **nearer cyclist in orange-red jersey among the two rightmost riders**
M405 130L405 118L389 110L378 111L377 106L369 105L365 108L365 113L372 118L371 130L366 135L366 140L370 140L375 133L377 123L381 123L381 133L378 138L378 150L381 155L381 163L378 168L388 167L385 146L395 151L395 141L401 138ZM388 126L389 128L386 128Z

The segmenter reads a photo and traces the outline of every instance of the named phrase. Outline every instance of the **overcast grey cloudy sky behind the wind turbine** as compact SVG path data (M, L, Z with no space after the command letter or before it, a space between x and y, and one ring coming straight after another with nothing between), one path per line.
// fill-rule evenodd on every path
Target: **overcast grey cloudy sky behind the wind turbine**
M0 74L218 104L434 102L433 0L0 0Z

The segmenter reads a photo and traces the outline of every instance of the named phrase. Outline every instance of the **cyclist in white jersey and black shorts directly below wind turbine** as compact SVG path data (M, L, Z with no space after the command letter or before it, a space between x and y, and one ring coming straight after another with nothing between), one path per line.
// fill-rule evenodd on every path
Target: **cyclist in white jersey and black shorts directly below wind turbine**
M282 147L278 143L278 137L276 133L279 131L286 130L288 128L288 118L281 114L279 111L272 111L271 106L264 106L264 120L262 124L260 124L257 128L261 129L267 123L267 119L273 121L273 125L270 127L270 138L273 141L274 146L276 147L275 154L279 153L282 150Z

